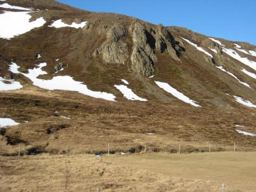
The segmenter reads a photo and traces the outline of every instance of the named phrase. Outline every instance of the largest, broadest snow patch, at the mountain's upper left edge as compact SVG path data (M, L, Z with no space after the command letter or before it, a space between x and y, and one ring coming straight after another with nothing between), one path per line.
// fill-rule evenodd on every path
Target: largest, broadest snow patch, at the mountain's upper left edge
M31 15L28 13L30 12L4 12L0 14L0 37L10 39L15 35L26 33L46 23L42 17L29 22Z

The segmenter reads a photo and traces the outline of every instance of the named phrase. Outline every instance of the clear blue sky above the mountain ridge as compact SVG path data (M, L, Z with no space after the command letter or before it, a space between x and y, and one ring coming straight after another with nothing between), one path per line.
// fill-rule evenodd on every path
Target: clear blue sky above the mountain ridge
M79 9L134 16L256 45L256 0L57 0Z

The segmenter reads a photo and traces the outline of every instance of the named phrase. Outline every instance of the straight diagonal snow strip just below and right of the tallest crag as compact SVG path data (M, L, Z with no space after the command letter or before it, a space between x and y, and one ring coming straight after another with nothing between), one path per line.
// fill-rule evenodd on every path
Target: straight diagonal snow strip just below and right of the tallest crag
M189 99L187 96L185 96L183 93L177 91L176 89L174 89L173 87L171 87L168 83L166 82L160 82L160 81L155 81L155 83L162 88L164 91L172 94L173 96L177 97L178 99L189 103L193 106L200 106L199 104L197 104L197 101L193 101L191 99ZM201 106L200 106L201 107Z

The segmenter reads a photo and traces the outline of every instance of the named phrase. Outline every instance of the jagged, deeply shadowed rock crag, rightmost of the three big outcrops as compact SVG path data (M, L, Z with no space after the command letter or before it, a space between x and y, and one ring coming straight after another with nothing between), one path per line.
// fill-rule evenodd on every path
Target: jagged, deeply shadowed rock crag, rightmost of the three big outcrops
M180 61L179 51L182 49L176 44L176 41L172 34L170 34L163 25L157 26L156 33L156 50L160 53L169 53L169 55L175 60Z

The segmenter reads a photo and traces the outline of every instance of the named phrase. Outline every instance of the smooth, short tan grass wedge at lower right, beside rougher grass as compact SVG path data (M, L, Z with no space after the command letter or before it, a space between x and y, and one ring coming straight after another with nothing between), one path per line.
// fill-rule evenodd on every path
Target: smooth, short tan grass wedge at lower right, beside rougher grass
M220 152L195 154L146 154L127 157L108 157L108 161L143 169L156 174L172 175L225 183L226 191L256 189L256 153Z

